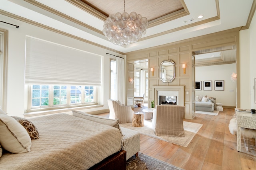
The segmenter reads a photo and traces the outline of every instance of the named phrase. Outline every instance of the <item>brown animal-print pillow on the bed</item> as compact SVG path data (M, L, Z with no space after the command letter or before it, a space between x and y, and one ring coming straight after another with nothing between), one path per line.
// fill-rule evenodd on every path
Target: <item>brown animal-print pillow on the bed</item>
M22 117L17 117L17 116L12 116L12 117L26 129L31 139L39 139L38 130L31 121Z

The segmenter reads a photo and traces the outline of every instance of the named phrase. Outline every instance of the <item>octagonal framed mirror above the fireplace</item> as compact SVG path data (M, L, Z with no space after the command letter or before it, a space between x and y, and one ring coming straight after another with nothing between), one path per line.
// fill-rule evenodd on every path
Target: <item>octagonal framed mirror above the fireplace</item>
M172 60L164 60L160 64L160 80L172 82L175 79L175 63Z

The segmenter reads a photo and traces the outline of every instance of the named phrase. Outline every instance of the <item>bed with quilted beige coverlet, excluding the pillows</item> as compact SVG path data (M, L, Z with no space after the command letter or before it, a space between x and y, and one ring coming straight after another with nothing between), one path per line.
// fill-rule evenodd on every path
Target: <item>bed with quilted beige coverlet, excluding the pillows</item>
M39 139L31 140L30 152L3 150L0 169L86 170L121 153L121 134L115 127L63 113L29 120L38 129ZM125 167L124 157L119 164L124 162Z

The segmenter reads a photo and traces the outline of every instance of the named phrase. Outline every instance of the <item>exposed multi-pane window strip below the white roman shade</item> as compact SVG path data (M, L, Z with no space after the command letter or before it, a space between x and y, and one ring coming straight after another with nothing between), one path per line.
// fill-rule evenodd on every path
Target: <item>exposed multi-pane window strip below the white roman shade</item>
M28 110L95 104L96 86L30 85Z

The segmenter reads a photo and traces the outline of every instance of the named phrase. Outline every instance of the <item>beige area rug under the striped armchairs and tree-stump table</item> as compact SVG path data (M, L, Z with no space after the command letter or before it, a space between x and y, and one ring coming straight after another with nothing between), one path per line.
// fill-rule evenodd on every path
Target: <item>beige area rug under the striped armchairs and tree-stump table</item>
M202 127L202 124L184 121L183 125L184 125L184 130L185 130L185 137L168 137L168 136L156 136L154 134L154 130L152 128L151 120L144 120L143 127L133 127L132 123L121 123L120 124L121 129L122 129L122 127L125 127L127 129L132 129L134 131L138 131L142 135L160 139L162 141L170 142L170 143L173 143L176 145L180 145L182 147L187 147L188 144L190 143L190 141L192 141L193 137L196 135L196 133Z

